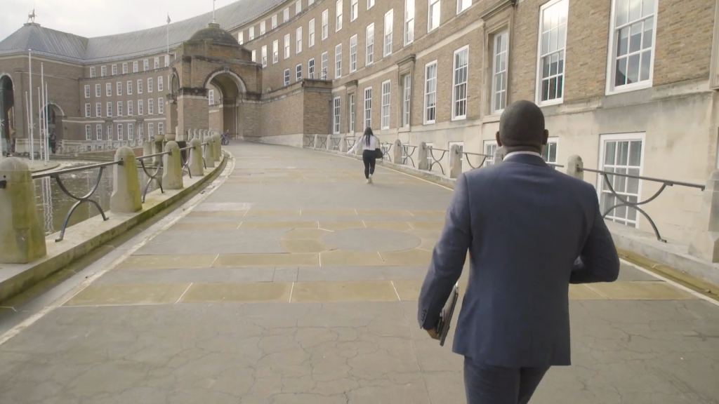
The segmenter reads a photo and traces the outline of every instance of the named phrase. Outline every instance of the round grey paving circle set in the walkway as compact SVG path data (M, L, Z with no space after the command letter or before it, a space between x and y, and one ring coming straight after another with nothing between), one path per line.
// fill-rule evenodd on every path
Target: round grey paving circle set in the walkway
M347 229L327 234L327 245L347 251L403 251L419 247L422 240L412 234L385 229Z

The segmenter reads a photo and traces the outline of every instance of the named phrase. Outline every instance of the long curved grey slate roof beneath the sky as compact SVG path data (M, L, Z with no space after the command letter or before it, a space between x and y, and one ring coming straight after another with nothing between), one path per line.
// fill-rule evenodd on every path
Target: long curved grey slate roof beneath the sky
M239 0L216 10L216 22L222 29L231 31L251 22L276 6L290 0ZM170 47L189 40L192 35L207 27L212 13L170 23ZM40 24L24 24L0 42L0 55L27 53L76 63L103 63L111 60L153 55L167 49L168 27L142 29L124 34L85 38Z

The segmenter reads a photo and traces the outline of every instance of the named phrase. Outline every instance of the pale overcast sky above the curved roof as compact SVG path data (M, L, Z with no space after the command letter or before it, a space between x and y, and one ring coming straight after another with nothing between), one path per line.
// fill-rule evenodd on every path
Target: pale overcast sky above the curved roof
M216 8L237 0L216 0ZM83 37L119 34L163 25L212 11L212 0L0 0L0 40L27 22L35 8L42 27Z

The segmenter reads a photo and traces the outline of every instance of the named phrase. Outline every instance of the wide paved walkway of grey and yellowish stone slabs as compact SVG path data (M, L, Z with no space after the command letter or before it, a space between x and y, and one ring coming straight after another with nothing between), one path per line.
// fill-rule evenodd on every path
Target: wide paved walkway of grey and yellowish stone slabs
M464 403L461 358L416 323L451 192L229 150L219 188L0 337L0 403ZM570 297L574 366L532 403L719 403L718 306L628 265Z

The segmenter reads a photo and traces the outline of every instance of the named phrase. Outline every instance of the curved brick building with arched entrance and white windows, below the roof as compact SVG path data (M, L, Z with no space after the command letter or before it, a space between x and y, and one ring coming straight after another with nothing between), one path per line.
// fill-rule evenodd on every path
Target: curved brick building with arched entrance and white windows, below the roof
M581 155L585 167L704 183L718 166L717 4L240 0L216 24L210 13L107 37L25 24L0 42L2 133L27 150L25 93L35 91L37 121L42 63L65 150L194 129L300 146L369 126L388 142L492 155L501 111L529 99L546 114L550 162ZM586 179L615 203L600 178ZM631 200L659 188L613 185ZM674 187L646 211L663 236L687 241L700 201ZM608 217L651 229L632 209Z

